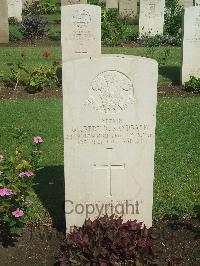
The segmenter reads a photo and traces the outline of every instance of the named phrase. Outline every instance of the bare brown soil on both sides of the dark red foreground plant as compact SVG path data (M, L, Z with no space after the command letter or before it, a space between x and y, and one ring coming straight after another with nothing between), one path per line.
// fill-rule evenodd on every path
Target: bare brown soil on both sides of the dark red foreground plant
M199 220L155 221L151 238L157 255L155 265L200 265ZM53 266L61 256L63 240L64 228L58 231L47 225L26 227L16 242L0 246L0 266Z

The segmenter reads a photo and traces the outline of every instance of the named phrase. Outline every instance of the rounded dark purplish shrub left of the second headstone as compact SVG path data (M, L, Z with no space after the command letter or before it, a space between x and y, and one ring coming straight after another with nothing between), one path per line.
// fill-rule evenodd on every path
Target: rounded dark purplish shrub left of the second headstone
M28 39L39 39L48 34L48 21L41 16L26 16L21 23L21 32Z

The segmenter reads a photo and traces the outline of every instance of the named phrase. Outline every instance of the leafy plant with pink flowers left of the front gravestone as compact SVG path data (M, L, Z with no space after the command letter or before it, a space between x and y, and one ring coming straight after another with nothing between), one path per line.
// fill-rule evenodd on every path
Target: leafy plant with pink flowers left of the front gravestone
M18 129L15 138L18 145L13 156L0 155L0 240L20 236L22 227L31 210L33 178L41 159L40 136L34 137L32 151L23 140Z

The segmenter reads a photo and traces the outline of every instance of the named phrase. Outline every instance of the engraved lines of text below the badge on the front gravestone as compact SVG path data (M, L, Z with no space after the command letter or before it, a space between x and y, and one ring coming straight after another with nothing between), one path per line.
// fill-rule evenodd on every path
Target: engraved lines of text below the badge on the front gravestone
M78 144L112 145L147 143L153 134L148 124L128 124L122 119L102 119L97 124L74 127L65 134Z

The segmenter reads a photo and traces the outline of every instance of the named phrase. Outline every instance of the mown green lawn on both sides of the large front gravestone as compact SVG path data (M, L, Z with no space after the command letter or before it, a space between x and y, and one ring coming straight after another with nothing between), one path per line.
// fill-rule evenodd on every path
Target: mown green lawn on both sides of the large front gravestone
M154 218L195 216L200 206L200 98L159 98L157 108ZM1 100L0 153L13 149L12 131L24 126L27 139L41 135L45 168L35 186L42 220L63 221L62 100Z

